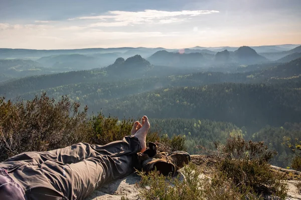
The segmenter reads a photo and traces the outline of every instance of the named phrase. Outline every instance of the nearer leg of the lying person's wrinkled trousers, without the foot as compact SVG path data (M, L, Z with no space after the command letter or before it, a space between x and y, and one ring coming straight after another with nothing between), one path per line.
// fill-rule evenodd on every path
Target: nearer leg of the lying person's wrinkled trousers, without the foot
M139 140L134 136L125 136L123 140L103 147L110 148L116 144L122 148L117 148L110 155L97 155L65 165L46 160L38 166L21 166L11 171L10 175L23 186L29 199L41 199L42 195L53 197L52 193L61 197L57 199L83 199L104 182L133 171L134 160L141 149Z

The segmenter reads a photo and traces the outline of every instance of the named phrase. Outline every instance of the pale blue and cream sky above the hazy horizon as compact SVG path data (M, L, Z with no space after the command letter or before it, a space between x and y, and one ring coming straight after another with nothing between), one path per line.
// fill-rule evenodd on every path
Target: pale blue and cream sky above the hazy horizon
M301 44L301 0L0 0L0 48Z

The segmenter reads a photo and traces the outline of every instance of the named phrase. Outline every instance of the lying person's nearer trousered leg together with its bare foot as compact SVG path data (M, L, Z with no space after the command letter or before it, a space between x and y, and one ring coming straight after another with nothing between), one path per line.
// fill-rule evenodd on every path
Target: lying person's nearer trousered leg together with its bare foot
M142 124L141 128L132 132L134 136L125 136L121 141L102 146L84 144L85 148L76 148L83 152L74 151L71 156L73 158L68 158L67 161L67 155L58 156L57 159L47 159L40 164L18 167L11 170L11 175L23 186L28 196L32 195L34 190L40 195L43 192L39 189L51 188L65 198L83 199L104 182L132 172L137 152L142 151L142 146L144 149L146 146L145 137L149 129L146 116L143 117ZM61 149L58 155L65 155L73 150L72 146L66 151ZM92 151L95 152L95 156L90 156ZM55 153L50 155L52 154ZM77 154L85 158L78 159ZM73 162L68 163L70 160Z

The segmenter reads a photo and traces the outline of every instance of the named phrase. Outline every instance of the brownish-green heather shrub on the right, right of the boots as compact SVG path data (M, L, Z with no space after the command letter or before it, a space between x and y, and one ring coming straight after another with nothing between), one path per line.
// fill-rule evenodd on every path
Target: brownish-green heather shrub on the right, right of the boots
M287 193L283 175L270 170L268 163L276 152L264 142L229 137L219 157L218 170L239 187L241 193L256 192L284 199Z

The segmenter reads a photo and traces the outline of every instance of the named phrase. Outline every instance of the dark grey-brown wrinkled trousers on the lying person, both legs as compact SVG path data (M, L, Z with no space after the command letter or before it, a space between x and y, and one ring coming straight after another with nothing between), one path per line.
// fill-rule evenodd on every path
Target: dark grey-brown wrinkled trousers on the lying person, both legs
M103 183L131 173L140 150L136 137L125 136L106 145L78 143L24 152L0 167L21 185L27 199L84 199Z

